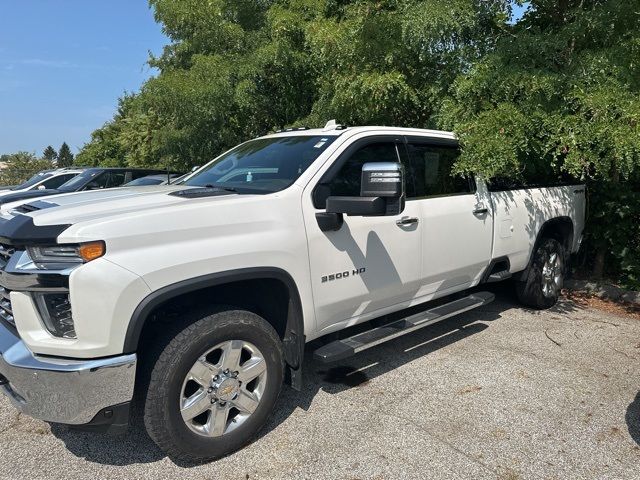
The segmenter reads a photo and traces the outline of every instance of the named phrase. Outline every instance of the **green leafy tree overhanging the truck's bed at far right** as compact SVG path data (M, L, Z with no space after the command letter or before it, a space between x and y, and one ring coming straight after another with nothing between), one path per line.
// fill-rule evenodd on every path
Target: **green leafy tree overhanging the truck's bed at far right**
M532 0L442 108L458 170L570 173L589 184L596 276L640 285L640 2Z

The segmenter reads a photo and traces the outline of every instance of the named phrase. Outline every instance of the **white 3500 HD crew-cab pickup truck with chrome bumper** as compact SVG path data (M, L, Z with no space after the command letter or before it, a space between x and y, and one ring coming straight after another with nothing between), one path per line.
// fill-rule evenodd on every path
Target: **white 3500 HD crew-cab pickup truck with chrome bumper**
M138 402L169 456L207 460L256 435L285 379L300 388L311 340L333 333L314 353L339 361L508 278L552 306L584 186L492 191L451 175L458 154L448 132L329 122L243 143L182 185L4 205L0 389L88 429L126 427Z

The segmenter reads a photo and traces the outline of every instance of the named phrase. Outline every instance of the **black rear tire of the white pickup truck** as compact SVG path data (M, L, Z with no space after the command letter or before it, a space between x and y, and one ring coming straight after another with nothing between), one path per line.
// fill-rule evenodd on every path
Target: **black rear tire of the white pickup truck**
M554 278L559 276L560 280L557 283L553 282L553 285L549 286L545 280L548 276L545 275L544 269L545 264L554 258L554 255L560 261L559 271L554 275ZM543 239L534 252L526 278L516 282L516 294L520 302L538 310L554 306L560 296L565 275L565 265L565 252L560 242L553 238Z

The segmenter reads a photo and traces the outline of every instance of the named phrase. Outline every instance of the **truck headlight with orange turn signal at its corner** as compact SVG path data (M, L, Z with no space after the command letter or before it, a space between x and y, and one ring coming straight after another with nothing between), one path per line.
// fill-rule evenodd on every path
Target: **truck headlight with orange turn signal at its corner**
M64 270L90 262L103 256L105 250L104 242L27 247L33 263L44 270Z

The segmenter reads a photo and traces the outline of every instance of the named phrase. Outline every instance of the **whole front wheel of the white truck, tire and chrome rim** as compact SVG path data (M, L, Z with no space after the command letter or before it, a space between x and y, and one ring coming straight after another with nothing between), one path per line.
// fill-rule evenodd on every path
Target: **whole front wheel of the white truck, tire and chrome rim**
M241 310L204 316L173 338L151 369L147 432L177 460L227 455L266 423L283 372L280 338L263 318Z

